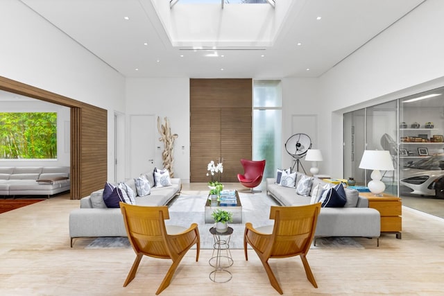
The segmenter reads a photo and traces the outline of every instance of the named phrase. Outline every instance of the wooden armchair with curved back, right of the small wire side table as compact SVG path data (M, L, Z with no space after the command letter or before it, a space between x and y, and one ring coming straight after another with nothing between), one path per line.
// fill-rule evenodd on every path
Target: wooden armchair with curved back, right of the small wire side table
M273 274L273 270L268 265L268 259L299 255L307 279L315 288L318 288L306 256L310 250L311 241L313 241L320 210L320 202L300 207L271 207L270 219L275 220L274 225L257 229L253 228L251 223L245 225L245 259L248 261L248 243L262 261L271 286L280 294L283 293L282 289Z

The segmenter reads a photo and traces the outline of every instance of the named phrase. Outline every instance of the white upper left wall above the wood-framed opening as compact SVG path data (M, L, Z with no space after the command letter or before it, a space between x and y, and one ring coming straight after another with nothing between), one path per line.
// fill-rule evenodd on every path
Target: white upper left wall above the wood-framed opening
M108 179L114 179L114 111L125 80L16 0L0 1L0 76L108 110Z

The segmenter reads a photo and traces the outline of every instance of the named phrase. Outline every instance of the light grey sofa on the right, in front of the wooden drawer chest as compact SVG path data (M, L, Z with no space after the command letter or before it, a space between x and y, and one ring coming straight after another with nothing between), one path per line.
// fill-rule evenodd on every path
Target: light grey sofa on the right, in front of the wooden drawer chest
M315 194L313 191L317 184L323 186L326 182L313 178L310 195ZM303 205L311 202L311 196L298 195L295 188L275 184L273 178L266 180L266 191L283 206ZM347 203L344 207L321 208L314 234L314 244L316 245L316 238L319 237L363 236L377 238L377 245L379 245L381 232L379 211L369 208L368 200L359 196L358 191L345 188L345 194L347 195Z

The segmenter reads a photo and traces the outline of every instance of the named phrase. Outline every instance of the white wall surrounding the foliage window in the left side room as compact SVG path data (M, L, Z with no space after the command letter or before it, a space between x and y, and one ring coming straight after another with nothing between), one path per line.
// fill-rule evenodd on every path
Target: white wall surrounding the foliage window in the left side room
M69 166L69 108L43 101L0 101L0 112L57 112L57 159L0 159L0 166Z

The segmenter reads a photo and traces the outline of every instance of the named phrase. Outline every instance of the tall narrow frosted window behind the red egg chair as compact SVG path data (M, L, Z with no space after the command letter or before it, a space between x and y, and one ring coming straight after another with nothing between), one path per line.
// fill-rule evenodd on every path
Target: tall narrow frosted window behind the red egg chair
M253 159L266 159L264 178L273 177L282 150L280 80L253 81Z

